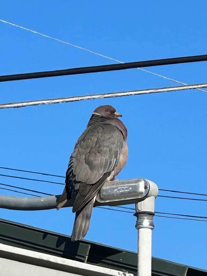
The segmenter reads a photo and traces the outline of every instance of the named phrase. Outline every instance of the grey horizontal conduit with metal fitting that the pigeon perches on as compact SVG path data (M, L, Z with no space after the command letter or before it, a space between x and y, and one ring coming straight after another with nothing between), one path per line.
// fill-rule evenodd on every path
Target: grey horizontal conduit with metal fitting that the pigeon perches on
M94 206L115 206L136 203L144 200L150 190L146 179L137 178L106 182L101 188ZM0 208L11 210L48 210L55 209L58 196L45 196L38 198L23 198L0 195ZM68 200L64 207L73 206L74 200Z

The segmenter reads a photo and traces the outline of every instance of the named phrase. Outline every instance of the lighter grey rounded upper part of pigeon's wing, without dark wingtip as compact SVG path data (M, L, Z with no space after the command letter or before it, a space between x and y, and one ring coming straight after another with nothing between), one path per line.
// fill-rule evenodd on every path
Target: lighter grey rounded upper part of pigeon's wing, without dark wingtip
M95 184L118 163L123 136L113 125L103 124L85 135L78 145L73 174L76 181Z

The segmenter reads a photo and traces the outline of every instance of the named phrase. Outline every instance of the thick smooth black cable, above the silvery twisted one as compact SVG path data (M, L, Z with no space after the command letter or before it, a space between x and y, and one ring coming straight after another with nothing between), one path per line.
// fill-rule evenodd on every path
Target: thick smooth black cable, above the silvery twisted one
M124 69L141 68L141 67L149 67L149 66L160 66L160 65L187 63L187 62L199 62L199 61L206 61L206 60L207 60L207 55L194 55L194 56L188 56L188 57L173 57L173 58L166 58L166 59L160 59L160 60L146 60L146 61L139 61L139 62L127 62L127 63L121 63L121 64L107 64L107 65L90 66L90 67L70 68L70 69L64 69L64 70L5 75L5 76L0 76L0 82L26 80L31 78L45 78L45 77L54 77L54 76L106 72L106 71L124 70Z

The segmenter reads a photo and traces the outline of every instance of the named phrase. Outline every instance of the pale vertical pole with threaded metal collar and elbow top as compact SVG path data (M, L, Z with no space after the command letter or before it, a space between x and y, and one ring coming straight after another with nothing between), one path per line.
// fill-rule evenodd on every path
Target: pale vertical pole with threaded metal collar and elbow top
M149 181L147 198L135 204L137 217L135 228L138 230L137 275L152 275L152 230L154 229L154 203L158 195L157 185Z

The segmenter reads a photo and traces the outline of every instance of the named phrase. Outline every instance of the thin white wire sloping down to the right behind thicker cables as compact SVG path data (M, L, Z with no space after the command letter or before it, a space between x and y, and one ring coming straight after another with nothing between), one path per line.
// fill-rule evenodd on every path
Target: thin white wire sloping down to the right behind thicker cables
M114 58L112 58L112 57L108 57L108 56L106 56L106 55L101 55L101 54L96 53L96 52L94 52L94 51L91 51L91 50L89 50L89 49L86 49L86 48L83 48L83 47L80 47L80 46L77 46L77 45L68 43L68 42L63 41L63 40L60 40L60 39L56 39L56 38L54 38L54 37L50 37L50 36L48 36L48 35L46 35L46 34L42 34L42 33L40 33L40 32L36 32L36 31L30 30L30 29L28 29L28 28L24 28L24 27L22 27L22 26L13 24L13 23L11 23L11 22L8 22L8 21L2 20L2 19L0 19L0 21L3 22L3 23L10 24L10 25L12 25L12 26L18 27L18 28L27 30L27 31L29 31L29 32L33 32L33 33L35 33L35 34L39 34L39 35L41 35L41 36L43 36L43 37L47 37L47 38L49 38L49 39L53 39L53 40L55 40L55 41L59 41L59 42L61 42L61 43L64 43L64 44L67 44L67 45L76 47L76 48L78 48L78 49L82 49L82 50L84 50L84 51L93 53L93 54L95 54L95 55L98 55L98 56L101 56L101 57L108 58L109 60L113 60L113 61L116 61L116 62L119 62L119 63L124 63L124 62L122 62L122 61L120 61L120 60L116 60L116 59L114 59ZM147 72L147 73L150 73L150 74L153 74L153 75L156 75L156 76L159 76L159 77L162 77L162 78L165 78L165 79L167 79L167 80L169 80L169 81L173 81L173 82L176 82L176 83L180 83L180 84L186 85L185 83L182 83L182 82L180 82L180 81L176 81L176 80L174 80L174 79L172 79L172 78L168 78L168 77L166 77L166 76L162 76L162 75L160 75L160 74L156 74L156 73L151 72L151 71L149 71L149 70L145 70L145 69L142 69L142 68L137 68L137 69L139 69L139 70L141 70L141 71L144 71L144 72ZM206 90L199 89L199 88L196 88L196 89L207 93Z

